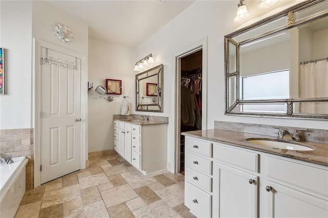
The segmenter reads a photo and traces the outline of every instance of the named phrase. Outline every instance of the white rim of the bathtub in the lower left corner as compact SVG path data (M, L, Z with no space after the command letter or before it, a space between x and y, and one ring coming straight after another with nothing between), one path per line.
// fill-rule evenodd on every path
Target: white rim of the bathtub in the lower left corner
M22 171L22 169L26 166L28 159L26 157L17 157L17 158L13 158L13 161L15 163L17 162L21 162L18 167L16 169L14 169L12 176L6 179L1 178L1 187L0 187L0 202L2 201L2 199L5 197L7 191L10 189L11 185L14 184L16 182L16 180L19 177L20 172ZM1 165L5 165L5 164L1 164ZM3 170L1 170L0 173L3 173Z

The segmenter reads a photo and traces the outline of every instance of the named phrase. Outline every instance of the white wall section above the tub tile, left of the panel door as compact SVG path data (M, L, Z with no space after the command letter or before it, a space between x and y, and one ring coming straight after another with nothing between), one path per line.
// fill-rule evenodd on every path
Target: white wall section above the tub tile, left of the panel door
M0 1L0 5L0 46L5 49L5 95L0 95L0 129L30 128L32 3Z

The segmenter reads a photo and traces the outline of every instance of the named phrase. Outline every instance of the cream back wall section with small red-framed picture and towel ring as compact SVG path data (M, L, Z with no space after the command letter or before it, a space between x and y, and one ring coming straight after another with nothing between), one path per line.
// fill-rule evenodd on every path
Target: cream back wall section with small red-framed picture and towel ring
M129 96L130 114L134 105L133 63L136 61L134 49L89 39L89 83L93 89L98 85L106 87L106 79L122 80L122 95L106 95L119 98L119 102L109 102L88 94L89 108L89 152L113 149L113 115L121 113L122 96Z

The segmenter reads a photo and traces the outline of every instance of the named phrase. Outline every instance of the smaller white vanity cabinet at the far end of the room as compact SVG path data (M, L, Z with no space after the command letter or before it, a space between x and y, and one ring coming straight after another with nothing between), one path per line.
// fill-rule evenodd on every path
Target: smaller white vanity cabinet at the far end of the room
M118 126L117 141L115 123ZM114 149L145 175L166 170L167 123L136 125L114 120Z

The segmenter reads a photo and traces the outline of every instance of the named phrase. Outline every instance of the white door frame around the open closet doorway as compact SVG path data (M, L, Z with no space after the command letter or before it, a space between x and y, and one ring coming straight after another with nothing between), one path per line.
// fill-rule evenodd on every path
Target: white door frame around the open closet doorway
M174 144L175 144L175 152L174 152L174 173L178 173L180 171L180 113L181 113L181 104L180 104L180 96L181 96L181 84L180 84L180 60L182 57L185 57L191 53L199 51L202 49L202 102L201 102L201 128L207 129L207 37L202 39L199 42L194 43L192 46L183 49L182 51L176 53L174 55L174 93L173 93L173 111L172 114L174 116Z

